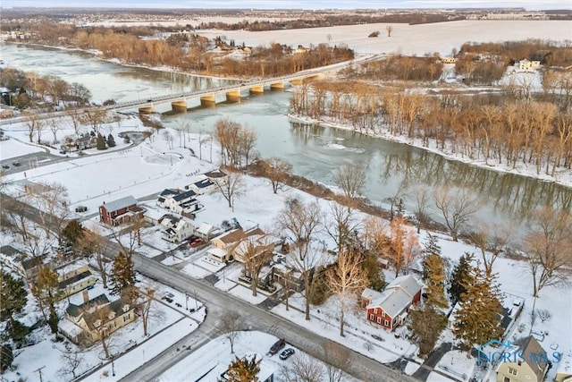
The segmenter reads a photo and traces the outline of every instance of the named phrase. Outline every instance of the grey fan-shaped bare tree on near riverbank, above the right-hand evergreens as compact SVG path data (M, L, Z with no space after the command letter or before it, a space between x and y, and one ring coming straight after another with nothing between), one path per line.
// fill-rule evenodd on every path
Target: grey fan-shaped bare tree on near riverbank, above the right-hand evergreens
M449 187L443 187L435 192L434 200L435 206L445 219L445 225L449 228L453 241L458 242L458 233L479 209L478 199L464 189L452 193Z

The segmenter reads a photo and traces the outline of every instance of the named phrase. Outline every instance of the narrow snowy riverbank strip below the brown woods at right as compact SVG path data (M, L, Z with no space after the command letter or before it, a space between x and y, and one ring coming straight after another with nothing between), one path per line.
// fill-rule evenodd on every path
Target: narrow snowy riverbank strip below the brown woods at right
M417 149L424 149L426 151L432 152L433 154L437 154L439 156L442 156L446 159L462 162L462 163L465 163L469 166L477 166L477 167L481 167L481 168L484 168L487 170L496 171L499 173L526 176L526 177L534 178L534 179L537 179L537 180L540 180L543 182L547 182L547 183L556 183L556 184L559 184L561 186L572 189L572 169L566 169L566 168L560 167L559 170L556 171L555 176L551 176L550 174L543 174L543 173L536 174L536 171L535 171L536 166L534 166L534 165L526 166L526 165L522 164L522 162L519 162L517 167L513 168L512 166L505 166L503 164L492 164L492 163L486 162L484 160L478 160L478 159L472 159L469 157L463 157L463 156L456 154L456 153L453 153L451 151L443 151L442 149L437 149L437 143L434 139L429 139L429 146L427 147L423 144L423 141L421 139L418 139L418 138L411 139L411 138L408 138L405 136L396 136L396 135L390 134L389 132L386 132L383 130L377 130L376 132L359 132L356 129L349 126L348 124L333 123L333 122L327 121L327 120L318 120L318 119L307 117L305 115L289 114L288 116L289 116L290 120L293 122L307 123L307 124L318 124L318 125L322 125L322 126L328 126L328 127L333 128L333 129L341 129L341 130L347 130L350 132L357 132L359 134L363 134L363 135L374 137L374 138L380 138L382 140L391 140L394 142L399 142L399 143L403 143L403 144L406 144L409 146L413 146ZM450 148L450 146L448 145L447 148ZM546 164L543 164L542 167L544 168L545 166L546 166Z

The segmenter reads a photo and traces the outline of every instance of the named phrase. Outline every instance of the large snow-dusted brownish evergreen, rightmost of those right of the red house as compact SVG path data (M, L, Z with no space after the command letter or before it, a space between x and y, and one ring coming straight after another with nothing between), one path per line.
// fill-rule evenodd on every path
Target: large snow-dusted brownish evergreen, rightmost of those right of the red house
M477 262L469 277L461 281L466 292L458 302L453 333L467 350L501 338L501 292L496 279L496 274L487 275Z

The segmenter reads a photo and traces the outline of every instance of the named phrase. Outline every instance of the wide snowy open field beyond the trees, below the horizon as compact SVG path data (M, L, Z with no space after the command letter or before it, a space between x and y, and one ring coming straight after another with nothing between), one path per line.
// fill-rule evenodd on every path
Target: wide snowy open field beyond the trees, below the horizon
M222 21L234 23L237 18L208 18L201 21ZM242 19L240 19L242 21ZM149 21L153 24L186 25L188 20ZM193 25L197 21L190 22ZM123 25L125 22L105 22L106 26ZM129 23L142 25L144 22ZM385 27L391 25L391 38L387 37ZM207 38L225 36L234 40L236 45L244 42L248 47L267 46L269 43L286 44L290 47L303 45L345 44L357 54L393 54L425 55L434 52L450 55L453 48L459 49L466 42L500 42L540 38L555 41L570 40L572 21L449 21L430 24L361 24L335 27L312 28L310 30L268 30L249 32L245 30L197 30L198 35ZM380 31L377 38L367 36L375 30Z

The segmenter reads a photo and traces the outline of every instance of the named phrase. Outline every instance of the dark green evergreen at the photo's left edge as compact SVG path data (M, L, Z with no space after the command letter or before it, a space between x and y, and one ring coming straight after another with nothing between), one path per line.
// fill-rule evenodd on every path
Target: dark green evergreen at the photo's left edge
M16 342L29 332L28 327L14 318L14 315L21 313L26 303L28 303L28 293L24 289L24 282L0 270L0 319L8 320L6 328Z

